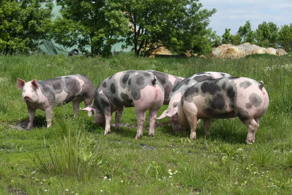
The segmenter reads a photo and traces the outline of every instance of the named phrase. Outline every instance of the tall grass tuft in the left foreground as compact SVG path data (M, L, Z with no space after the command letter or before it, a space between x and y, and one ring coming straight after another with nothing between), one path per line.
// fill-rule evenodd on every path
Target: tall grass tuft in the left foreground
M85 182L96 175L102 163L95 140L76 131L73 136L69 131L68 136L49 145L44 156L38 153L35 156L34 162L41 172Z

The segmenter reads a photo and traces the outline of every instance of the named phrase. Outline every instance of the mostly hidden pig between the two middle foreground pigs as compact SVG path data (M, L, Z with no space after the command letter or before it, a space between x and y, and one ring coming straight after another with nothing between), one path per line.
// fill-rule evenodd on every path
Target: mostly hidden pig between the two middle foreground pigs
M166 73L162 73L156 70L146 70L149 71L151 73L153 73L156 78L159 79L159 81L161 82L161 84L163 85L164 88L164 105L168 105L170 98L170 92L173 89L174 86L176 86L179 82L181 82L184 78L183 77L178 77L178 76L173 76L173 75L169 75Z

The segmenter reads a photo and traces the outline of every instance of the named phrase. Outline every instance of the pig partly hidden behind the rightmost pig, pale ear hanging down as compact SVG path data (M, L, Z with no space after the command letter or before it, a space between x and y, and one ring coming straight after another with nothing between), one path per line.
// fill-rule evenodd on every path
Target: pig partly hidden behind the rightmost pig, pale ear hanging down
M176 84L170 92L169 98L170 102L168 104L168 108L162 113L160 117L157 119L164 118L166 116L170 117L170 121L172 123L173 132L177 132L182 130L181 125L178 122L178 103L182 98L183 93L192 85L197 84L198 82L210 80L214 78L230 78L231 75L227 73L220 72L202 72L192 75L190 77L185 78L178 84Z

